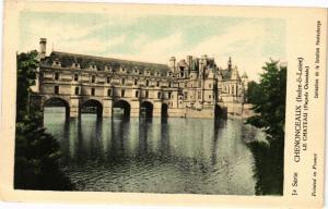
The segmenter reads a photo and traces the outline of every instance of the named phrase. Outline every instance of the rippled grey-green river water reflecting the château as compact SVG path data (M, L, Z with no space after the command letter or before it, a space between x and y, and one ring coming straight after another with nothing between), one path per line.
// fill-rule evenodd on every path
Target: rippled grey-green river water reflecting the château
M62 109L46 108L44 121L79 190L255 194L247 142L265 135L241 119L97 121L82 114L81 121L66 122Z

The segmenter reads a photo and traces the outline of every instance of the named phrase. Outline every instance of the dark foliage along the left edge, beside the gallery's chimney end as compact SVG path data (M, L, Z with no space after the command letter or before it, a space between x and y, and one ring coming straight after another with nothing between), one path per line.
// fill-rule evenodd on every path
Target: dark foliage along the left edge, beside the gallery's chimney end
M16 138L14 187L21 189L70 189L72 184L59 169L57 140L42 127L42 114L30 110L35 84L37 52L17 54Z

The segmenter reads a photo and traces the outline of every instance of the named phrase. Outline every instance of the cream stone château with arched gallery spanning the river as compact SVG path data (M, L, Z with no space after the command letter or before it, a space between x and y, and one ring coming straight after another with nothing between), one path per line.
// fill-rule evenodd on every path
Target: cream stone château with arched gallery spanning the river
M61 100L71 118L86 104L103 116L119 107L131 116L144 110L152 116L214 118L215 109L242 113L246 84L231 59L223 70L207 56L172 57L168 65L58 51L46 57L42 38L35 91L43 102Z

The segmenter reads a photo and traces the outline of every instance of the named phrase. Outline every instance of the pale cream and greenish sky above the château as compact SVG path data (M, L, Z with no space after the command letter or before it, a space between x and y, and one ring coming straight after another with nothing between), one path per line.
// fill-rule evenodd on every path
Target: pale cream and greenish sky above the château
M285 20L227 16L140 15L97 13L20 14L19 52L39 49L47 38L52 50L168 64L187 56L214 57L257 81L270 59L284 62Z

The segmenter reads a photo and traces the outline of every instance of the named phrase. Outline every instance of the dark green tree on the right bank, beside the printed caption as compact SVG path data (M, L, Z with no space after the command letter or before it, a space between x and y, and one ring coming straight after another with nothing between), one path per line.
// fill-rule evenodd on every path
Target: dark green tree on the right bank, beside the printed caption
M257 167L258 194L282 194L286 66L271 60L262 69L259 83L249 84L247 97L256 115L246 123L267 134L267 144L250 144Z

